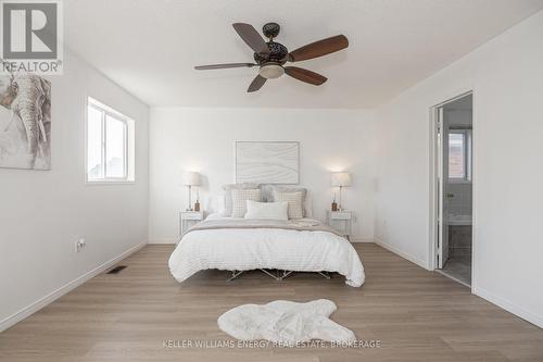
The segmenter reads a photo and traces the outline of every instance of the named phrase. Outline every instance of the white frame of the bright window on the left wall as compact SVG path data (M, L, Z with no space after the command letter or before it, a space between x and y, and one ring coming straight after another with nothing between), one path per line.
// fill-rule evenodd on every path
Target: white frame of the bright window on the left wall
M88 163L89 163L89 109L92 108L101 113L100 118L100 128L101 128L101 166L102 166L102 175L100 178L90 178L88 172ZM105 160L108 159L108 116L111 118L123 123L123 177L108 177L108 165ZM129 164L134 162L129 152L129 122L131 118L127 117L123 113L115 111L111 107L96 100L92 97L87 97L87 107L85 109L85 183L87 185L119 185L119 184L135 184L134 177L130 177Z

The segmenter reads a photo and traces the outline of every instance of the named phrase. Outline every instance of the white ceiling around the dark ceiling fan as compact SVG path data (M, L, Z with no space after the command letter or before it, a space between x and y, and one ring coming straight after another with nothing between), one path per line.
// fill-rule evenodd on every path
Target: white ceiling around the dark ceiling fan
M543 8L543 0L66 0L67 47L149 105L371 108ZM245 90L257 68L231 24L281 25L289 48L344 34L350 47Z

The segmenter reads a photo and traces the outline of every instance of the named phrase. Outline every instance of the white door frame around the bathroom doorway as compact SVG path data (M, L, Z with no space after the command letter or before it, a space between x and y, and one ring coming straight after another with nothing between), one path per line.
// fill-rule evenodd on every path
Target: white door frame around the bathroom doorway
M452 101L455 101L457 99L464 98L466 96L471 95L471 100L472 100L472 110L471 110L471 187L472 187L472 211L471 211L471 292L475 292L476 290L476 214L477 214L477 209L476 209L476 192L477 192L477 187L476 187L476 182L477 182L477 126L476 126L476 93L475 91L468 90L463 93L459 93L456 97L450 98L445 101L442 101L440 103L437 103L429 109L429 120L430 120L430 235L429 235L429 258L428 258L428 266L430 271L434 271L438 269L438 260L437 260L437 252L438 252L438 240L439 240L439 227L438 227L438 217L439 217L439 198L440 198L440 188L439 188L439 173L442 171L440 170L440 149L438 147L438 140L437 140L437 135L438 135L438 112L439 108L443 107L446 103L450 103Z

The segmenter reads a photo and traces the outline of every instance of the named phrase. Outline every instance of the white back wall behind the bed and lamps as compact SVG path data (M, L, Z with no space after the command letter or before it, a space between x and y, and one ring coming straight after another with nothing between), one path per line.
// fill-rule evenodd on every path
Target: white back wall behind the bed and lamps
M344 205L356 212L354 238L371 240L372 142L371 112L294 109L153 108L150 122L150 241L174 242L178 213L187 208L184 170L199 171L207 185L201 190L224 194L235 182L236 140L295 140L301 143L301 185L324 220L333 197L330 171L349 171L353 186L344 189Z

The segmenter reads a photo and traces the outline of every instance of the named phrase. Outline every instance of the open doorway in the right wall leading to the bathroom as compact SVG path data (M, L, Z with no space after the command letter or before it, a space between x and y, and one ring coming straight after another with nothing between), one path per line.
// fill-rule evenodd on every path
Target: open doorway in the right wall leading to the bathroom
M471 286L472 265L472 93L433 108L434 265Z

